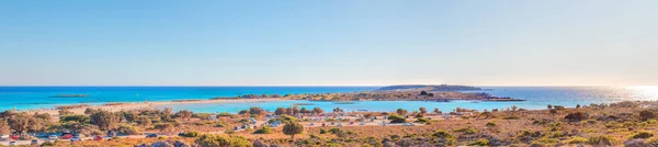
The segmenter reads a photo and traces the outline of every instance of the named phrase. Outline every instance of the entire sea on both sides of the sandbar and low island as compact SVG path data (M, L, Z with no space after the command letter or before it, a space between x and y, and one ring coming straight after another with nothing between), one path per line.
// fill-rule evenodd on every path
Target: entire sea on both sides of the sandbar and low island
M302 94L331 92L373 91L379 87L0 87L0 111L52 109L56 105L86 103L98 105L114 102L171 101L190 99L213 99L245 94ZM158 109L171 108L174 111L189 110L203 113L237 113L251 106L260 106L266 111L276 108L298 105L300 108L321 108L332 110L341 108L345 111L387 112L397 109L428 110L440 109L450 112L456 108L492 110L515 105L521 109L540 110L548 104L568 108L589 105L591 103L612 103L619 101L656 101L658 87L481 87L481 91L497 97L524 99L519 102L480 102L480 101L354 101L354 102L317 102L317 101L257 101L230 103L196 103L161 105ZM66 94L84 94L87 97L58 97Z

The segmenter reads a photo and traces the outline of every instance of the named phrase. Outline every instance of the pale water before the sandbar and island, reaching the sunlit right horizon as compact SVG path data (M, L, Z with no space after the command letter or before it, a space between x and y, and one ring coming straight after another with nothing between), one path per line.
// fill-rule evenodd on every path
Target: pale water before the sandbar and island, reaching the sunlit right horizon
M172 108L178 110L192 110L194 112L236 113L240 110L247 110L250 106L260 106L268 111L274 111L276 108L293 106L294 103L310 103L311 105L299 105L299 108L321 108L330 111L334 108L341 108L347 111L368 110L377 112L395 111L406 109L409 111L426 108L432 111L435 108L443 112L453 111L455 108L466 108L475 110L506 109L517 105L521 109L540 110L546 109L546 105L564 105L574 108L577 104L589 105L590 103L611 103L619 101L643 101L658 100L658 88L603 88L603 87L485 87L484 91L499 97L512 97L524 99L523 102L477 102L473 101L452 101L452 102L424 102L424 101L355 101L353 104L338 104L334 102L310 102L310 101L274 101L274 102L253 102L253 103L211 103L211 104L173 104L160 108Z

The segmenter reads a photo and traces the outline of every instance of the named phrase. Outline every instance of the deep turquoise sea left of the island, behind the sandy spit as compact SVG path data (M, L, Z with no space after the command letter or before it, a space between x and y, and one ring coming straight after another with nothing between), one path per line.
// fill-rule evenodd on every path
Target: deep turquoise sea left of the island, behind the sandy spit
M0 87L0 110L53 108L63 104L212 99L238 94L355 92L377 87ZM86 98L50 98L87 94Z

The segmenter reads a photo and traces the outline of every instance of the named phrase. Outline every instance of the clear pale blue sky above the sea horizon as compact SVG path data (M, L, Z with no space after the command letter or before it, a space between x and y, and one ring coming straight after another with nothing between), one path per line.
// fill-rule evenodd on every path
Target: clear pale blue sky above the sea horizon
M2 0L2 86L658 84L657 0Z

